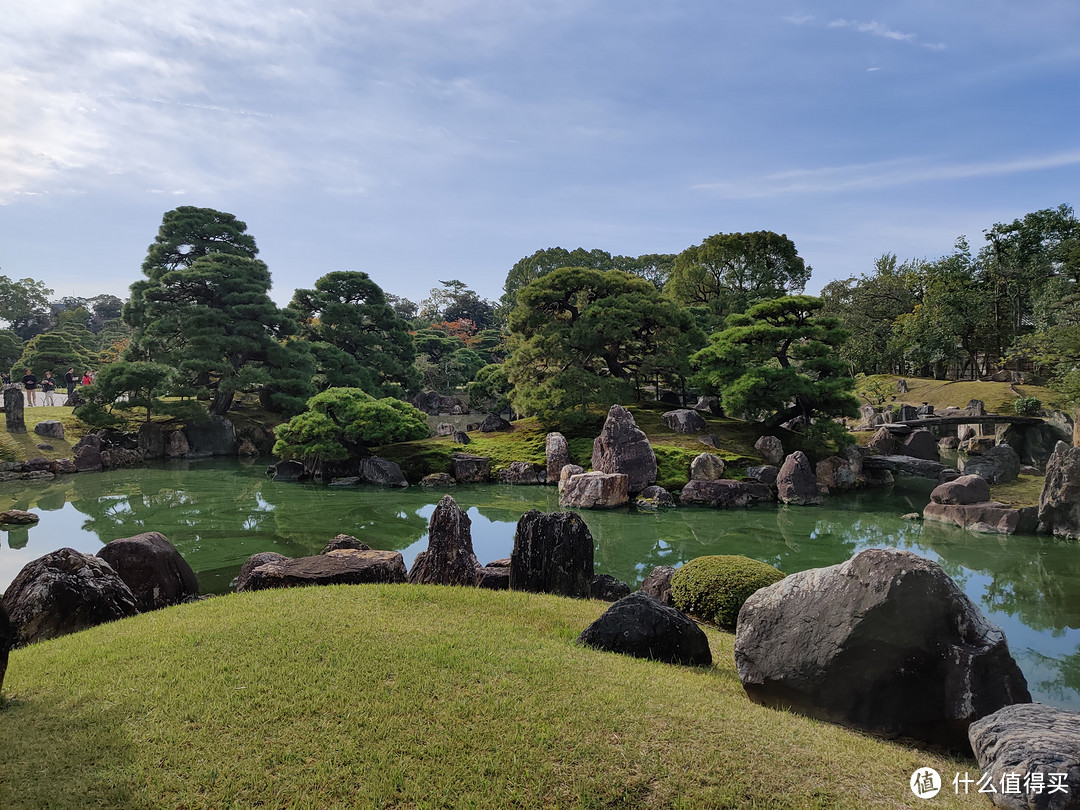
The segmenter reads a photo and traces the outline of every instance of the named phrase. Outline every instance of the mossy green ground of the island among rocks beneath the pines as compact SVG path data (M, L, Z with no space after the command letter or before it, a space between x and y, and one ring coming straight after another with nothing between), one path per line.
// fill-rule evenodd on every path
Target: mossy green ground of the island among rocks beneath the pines
M760 463L754 443L761 435L758 426L738 419L707 417L706 433L714 433L720 449L713 449L701 443L702 434L677 433L664 424L661 415L671 410L671 405L662 403L627 406L634 415L637 427L645 431L657 455L657 483L666 489L680 489L690 477L690 462L701 453L713 453L732 468L732 474L747 465ZM570 462L584 469L592 465L593 440L599 434L604 419L597 414L594 426L577 431L566 431ZM778 431L773 431L777 433ZM784 434L785 445L798 446L795 434ZM545 463L544 440L548 431L535 418L521 419L513 423L513 430L495 433L469 433L468 445L455 444L449 436L422 438L416 442L384 445L375 449L382 458L396 462L405 477L416 482L434 472L450 472L450 454L470 453L491 459L491 470L507 468L513 461L530 464Z

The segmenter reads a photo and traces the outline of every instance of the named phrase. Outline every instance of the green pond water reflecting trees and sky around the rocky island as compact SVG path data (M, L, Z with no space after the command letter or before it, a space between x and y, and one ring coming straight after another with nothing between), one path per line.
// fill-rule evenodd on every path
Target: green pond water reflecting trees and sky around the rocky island
M41 515L0 532L0 590L31 559L70 546L161 531L191 564L204 593L227 593L260 551L319 553L335 535L402 552L428 544L428 518L443 490L333 488L275 483L266 462L171 462L0 484L0 509ZM596 571L636 586L657 565L703 554L744 554L788 573L843 562L868 548L907 549L940 563L1005 632L1036 700L1080 710L1080 546L1045 537L980 535L900 518L920 512L931 484L900 480L823 507L582 512L596 541ZM529 509L558 509L554 487L462 486L450 490L472 519L482 563L510 555Z

